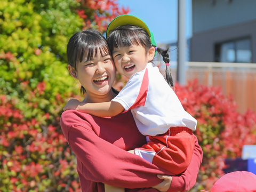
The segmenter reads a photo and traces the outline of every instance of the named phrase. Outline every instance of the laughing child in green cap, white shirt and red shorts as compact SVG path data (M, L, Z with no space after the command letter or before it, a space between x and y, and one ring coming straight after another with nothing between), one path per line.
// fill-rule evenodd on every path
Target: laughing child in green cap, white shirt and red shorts
M192 130L196 119L182 107L173 86L167 50L156 47L147 25L132 15L121 15L108 26L107 41L119 73L129 81L111 102L80 103L70 100L64 110L77 109L95 116L115 116L132 111L139 131L148 143L134 149L136 155L173 174L185 171L194 150ZM150 62L155 51L166 62L166 80ZM100 83L104 78L94 79Z

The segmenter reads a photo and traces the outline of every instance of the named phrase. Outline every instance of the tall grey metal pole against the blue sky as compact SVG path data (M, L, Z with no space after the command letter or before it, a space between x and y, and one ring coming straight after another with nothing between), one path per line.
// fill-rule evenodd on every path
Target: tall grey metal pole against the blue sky
M177 81L186 85L186 0L178 1Z

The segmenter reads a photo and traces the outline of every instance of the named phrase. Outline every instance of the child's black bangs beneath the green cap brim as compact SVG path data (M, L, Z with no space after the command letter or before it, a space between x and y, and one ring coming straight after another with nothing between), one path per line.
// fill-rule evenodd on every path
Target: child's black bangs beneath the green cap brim
M126 47L126 46L143 46L147 47L148 43L150 44L150 37L147 35L146 31L140 30L131 30L130 28L122 28L117 27L113 31L111 31L110 35L108 36L108 44L110 52L112 53L114 48L117 47ZM130 27L130 26L125 26ZM147 50L147 49L146 49Z

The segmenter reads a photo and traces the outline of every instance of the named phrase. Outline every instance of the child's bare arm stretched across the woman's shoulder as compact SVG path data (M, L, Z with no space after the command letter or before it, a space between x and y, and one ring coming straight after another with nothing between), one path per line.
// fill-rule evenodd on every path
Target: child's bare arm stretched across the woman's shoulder
M124 107L119 102L83 103L76 99L70 99L67 102L63 110L68 109L76 109L98 117L113 117L124 111Z

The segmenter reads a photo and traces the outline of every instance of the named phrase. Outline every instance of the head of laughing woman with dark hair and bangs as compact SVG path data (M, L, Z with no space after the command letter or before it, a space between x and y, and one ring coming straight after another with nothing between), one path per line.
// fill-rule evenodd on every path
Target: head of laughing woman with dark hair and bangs
M87 30L76 33L70 38L67 48L68 70L82 84L81 92L86 93L85 100L94 98L95 94L111 93L109 91L115 81L115 67L108 44L102 35L95 36L95 33L98 32Z

